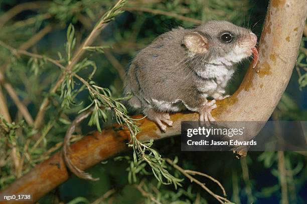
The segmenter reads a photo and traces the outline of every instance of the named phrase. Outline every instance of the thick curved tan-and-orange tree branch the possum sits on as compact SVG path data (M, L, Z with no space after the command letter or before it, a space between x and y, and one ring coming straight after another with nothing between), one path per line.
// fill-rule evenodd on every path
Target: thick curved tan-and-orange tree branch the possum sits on
M217 102L218 107L213 111L217 120L266 121L269 118L291 76L306 15L306 0L270 1L260 39L258 72L250 66L239 89L230 98ZM171 118L174 126L165 133L154 122L141 120L138 139L179 135L181 121L198 120L198 114L176 113ZM256 131L251 132L254 135L250 136L255 136ZM72 163L84 170L126 150L128 139L127 129L114 131L109 127L101 133L94 132L71 145ZM30 193L38 200L68 178L61 152L57 152L0 193Z

